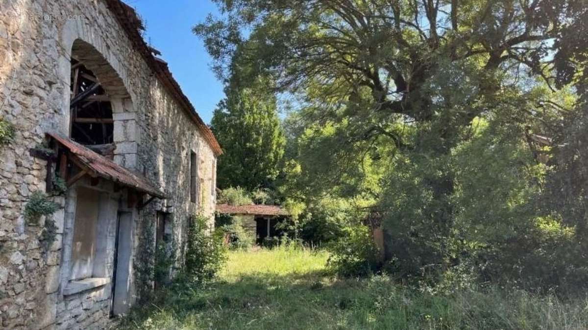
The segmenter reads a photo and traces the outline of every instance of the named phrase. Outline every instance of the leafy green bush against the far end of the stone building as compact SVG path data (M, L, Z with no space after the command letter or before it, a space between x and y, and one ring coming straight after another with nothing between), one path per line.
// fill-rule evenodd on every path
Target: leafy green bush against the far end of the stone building
M208 218L198 214L190 221L183 275L192 284L213 280L227 258L222 235L218 231L211 234L206 221Z

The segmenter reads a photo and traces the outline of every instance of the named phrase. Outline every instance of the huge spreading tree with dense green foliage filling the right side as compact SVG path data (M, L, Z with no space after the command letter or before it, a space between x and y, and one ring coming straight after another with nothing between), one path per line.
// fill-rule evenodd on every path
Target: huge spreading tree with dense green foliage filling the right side
M217 2L218 75L293 99L280 191L311 240L381 225L403 280L586 287L586 1Z

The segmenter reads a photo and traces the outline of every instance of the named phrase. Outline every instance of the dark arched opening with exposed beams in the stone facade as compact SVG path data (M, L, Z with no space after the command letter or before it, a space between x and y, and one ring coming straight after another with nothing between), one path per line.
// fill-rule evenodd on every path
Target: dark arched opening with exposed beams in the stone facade
M96 146L113 143L112 105L105 90L82 62L71 61L71 138Z

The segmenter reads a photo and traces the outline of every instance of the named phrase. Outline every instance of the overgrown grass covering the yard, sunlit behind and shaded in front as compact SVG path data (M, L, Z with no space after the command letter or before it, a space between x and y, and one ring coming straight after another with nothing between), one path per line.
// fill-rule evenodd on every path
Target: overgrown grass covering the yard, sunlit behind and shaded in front
M431 295L386 277L337 279L299 247L232 251L219 281L176 285L121 322L132 329L586 329L588 299L493 289Z

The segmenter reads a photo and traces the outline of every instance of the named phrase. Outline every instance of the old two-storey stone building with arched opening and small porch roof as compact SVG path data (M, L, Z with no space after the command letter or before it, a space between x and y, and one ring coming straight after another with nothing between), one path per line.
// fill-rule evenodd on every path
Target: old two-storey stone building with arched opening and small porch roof
M119 0L0 0L0 328L106 328L213 224L219 144L141 33Z

